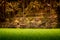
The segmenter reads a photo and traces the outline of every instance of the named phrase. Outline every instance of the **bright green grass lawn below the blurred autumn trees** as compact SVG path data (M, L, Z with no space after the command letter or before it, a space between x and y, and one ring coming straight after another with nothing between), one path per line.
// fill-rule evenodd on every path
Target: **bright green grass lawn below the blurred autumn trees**
M60 40L60 29L0 28L0 40Z

